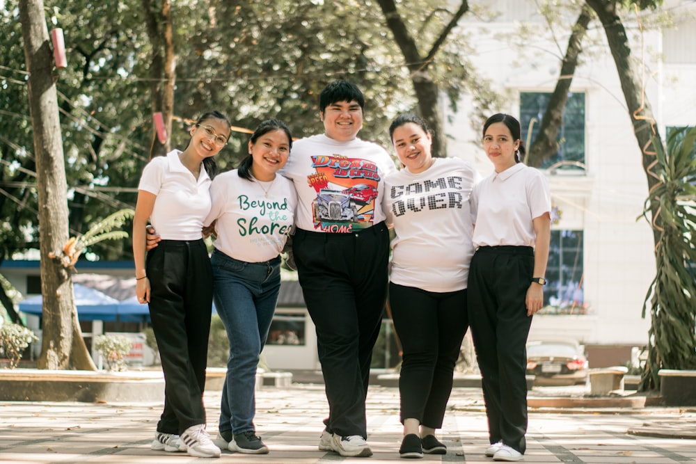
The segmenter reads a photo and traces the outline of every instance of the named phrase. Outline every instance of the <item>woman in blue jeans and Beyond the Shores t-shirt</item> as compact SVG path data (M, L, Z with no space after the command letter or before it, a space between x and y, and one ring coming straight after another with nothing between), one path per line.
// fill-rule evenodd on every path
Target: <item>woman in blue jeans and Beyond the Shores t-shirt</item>
M291 146L283 122L262 122L248 143L248 157L210 187L212 209L205 224L216 230L211 257L214 302L230 341L214 443L240 453L268 453L255 433L254 387L278 300L279 255L294 221L294 186L276 174Z

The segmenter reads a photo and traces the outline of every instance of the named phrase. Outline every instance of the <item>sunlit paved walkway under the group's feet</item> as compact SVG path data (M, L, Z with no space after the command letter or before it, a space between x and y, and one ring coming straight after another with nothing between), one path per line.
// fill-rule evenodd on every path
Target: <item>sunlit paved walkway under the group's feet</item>
M216 430L220 392L207 392L209 430ZM161 403L0 403L1 463L394 463L401 425L394 387L371 386L368 395L368 442L371 458L342 458L317 450L326 415L324 386L293 383L263 387L257 393L258 434L270 454L223 452L219 461L186 454L151 451ZM636 408L530 411L524 463L689 463L696 462L696 410ZM631 433L627 431L631 430ZM665 438L643 436L647 432ZM671 431L671 433L670 433ZM677 438L689 436L693 438ZM489 463L486 418L477 388L455 388L445 417L443 456L424 463ZM410 461L410 460L409 460ZM418 461L416 461L418 462Z

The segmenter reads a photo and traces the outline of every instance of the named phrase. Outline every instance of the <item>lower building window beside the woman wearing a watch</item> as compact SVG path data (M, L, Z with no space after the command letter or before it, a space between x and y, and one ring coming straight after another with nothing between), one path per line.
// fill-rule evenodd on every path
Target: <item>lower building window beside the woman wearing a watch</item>
M583 231L552 230L544 313L587 314L583 296Z

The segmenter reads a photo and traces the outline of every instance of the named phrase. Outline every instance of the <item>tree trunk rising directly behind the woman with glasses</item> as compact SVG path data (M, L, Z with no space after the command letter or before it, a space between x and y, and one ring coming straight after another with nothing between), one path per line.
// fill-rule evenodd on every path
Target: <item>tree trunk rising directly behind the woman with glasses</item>
M152 65L150 65L150 101L152 113L162 113L167 139L162 143L157 138L157 130L152 125L152 147L150 158L166 154L172 132L174 111L174 83L176 80L176 57L174 55L174 34L172 28L170 0L143 0L145 23L152 44Z

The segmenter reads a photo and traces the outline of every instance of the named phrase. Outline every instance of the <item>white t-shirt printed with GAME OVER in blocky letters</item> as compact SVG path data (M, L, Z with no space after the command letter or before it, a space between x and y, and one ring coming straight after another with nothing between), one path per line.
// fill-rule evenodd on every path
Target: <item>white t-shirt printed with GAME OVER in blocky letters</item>
M466 288L471 242L469 195L480 175L459 158L433 159L422 173L384 179L383 207L394 226L390 280L442 293Z

